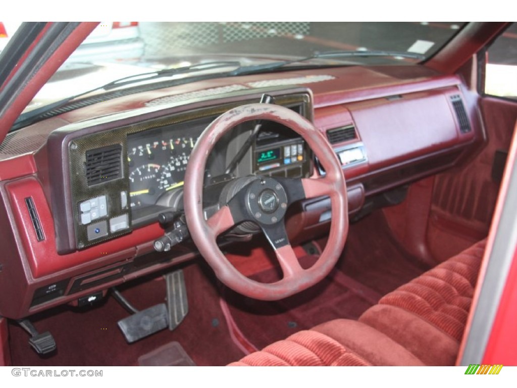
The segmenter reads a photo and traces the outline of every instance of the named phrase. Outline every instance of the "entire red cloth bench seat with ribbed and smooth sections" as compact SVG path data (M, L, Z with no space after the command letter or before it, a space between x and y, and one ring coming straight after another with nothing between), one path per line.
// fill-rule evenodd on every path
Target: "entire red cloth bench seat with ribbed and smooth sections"
M230 365L454 365L485 245L390 292L358 321L317 325Z

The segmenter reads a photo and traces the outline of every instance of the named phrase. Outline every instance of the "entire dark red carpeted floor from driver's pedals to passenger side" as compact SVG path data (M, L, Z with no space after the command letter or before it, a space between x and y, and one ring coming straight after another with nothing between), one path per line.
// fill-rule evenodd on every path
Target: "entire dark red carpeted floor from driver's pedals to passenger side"
M237 257L235 249L229 256L243 265L248 275L254 273L253 277L270 281L276 271L269 260L261 258L268 249L249 246L241 257ZM254 261L253 257L260 260ZM302 260L310 261L311 257ZM128 345L117 326L117 321L128 313L112 298L91 308L62 306L32 317L40 332L49 330L56 339L57 352L49 357L39 357L29 348L28 335L16 324L9 325L12 363L138 365L141 355L177 341L196 365L225 365L244 353L229 334L219 303L221 293L240 332L262 348L333 318L356 319L383 294L425 269L397 246L381 213L374 213L351 225L343 255L329 277L298 295L279 302L254 301L220 286L204 262L193 262L184 267L189 314L175 331L163 330ZM136 308L144 309L163 302L165 285L158 276L129 283L121 291Z

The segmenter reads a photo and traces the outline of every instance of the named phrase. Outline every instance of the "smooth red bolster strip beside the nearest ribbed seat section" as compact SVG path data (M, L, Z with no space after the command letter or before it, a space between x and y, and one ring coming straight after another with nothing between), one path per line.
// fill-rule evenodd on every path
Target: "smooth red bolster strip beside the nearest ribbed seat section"
M396 341L362 322L336 319L317 325L312 330L335 339L349 352L372 365L425 365Z

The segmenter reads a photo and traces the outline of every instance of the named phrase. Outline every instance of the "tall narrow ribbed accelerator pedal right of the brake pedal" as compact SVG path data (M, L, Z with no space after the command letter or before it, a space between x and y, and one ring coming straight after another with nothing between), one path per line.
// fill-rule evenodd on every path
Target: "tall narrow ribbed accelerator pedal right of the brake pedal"
M169 311L169 330L174 330L189 312L185 276L182 270L165 275L167 286L167 310Z

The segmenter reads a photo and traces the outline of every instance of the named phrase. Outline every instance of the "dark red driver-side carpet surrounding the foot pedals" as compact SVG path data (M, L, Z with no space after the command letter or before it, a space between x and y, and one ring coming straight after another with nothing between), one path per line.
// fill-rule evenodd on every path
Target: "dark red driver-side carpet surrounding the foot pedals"
M218 290L207 280L204 266L194 263L183 270L191 308L173 332L165 329L129 345L117 327L117 321L128 313L113 298L95 308L61 306L32 317L40 332L49 330L56 340L57 351L49 356L38 356L29 348L28 335L18 325L9 325L13 365L132 366L138 365L142 354L171 341L179 342L196 365L226 365L240 359L244 353L230 338ZM165 297L162 277L145 278L119 289L138 309L163 303Z

